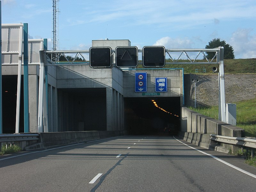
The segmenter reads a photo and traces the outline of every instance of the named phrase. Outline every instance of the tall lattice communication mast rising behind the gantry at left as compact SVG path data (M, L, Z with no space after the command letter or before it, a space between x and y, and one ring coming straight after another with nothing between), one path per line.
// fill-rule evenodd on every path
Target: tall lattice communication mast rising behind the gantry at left
M59 0L52 0L52 51L59 50ZM59 62L59 54L52 54L52 61Z

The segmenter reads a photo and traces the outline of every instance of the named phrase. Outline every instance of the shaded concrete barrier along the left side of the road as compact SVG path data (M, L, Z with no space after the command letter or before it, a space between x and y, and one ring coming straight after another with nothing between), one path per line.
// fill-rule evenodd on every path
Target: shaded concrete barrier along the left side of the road
M46 132L38 133L39 140L37 143L24 147L24 150L35 150L60 145L68 145L78 142L99 140L103 138L116 137L125 135L121 131L84 131L84 132Z

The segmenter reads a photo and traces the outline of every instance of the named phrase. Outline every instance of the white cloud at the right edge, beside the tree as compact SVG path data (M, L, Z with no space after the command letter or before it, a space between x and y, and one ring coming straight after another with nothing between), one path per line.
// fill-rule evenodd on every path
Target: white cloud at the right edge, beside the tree
M252 29L237 29L228 44L234 49L236 59L256 58L256 35Z

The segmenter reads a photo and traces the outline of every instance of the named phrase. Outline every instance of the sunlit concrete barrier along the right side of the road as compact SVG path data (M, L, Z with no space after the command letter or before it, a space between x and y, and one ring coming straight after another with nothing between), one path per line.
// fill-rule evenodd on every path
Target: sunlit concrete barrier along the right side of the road
M239 127L196 113L186 107L181 108L181 113L179 136L190 143L212 150L228 152L229 150L235 151L236 146L211 141L210 134L244 137L244 129Z

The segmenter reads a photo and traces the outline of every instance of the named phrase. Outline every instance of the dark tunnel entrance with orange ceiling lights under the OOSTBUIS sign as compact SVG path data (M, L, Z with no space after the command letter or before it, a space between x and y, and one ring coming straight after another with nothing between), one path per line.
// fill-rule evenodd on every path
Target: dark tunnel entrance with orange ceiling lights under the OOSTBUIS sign
M130 134L175 135L180 130L180 97L124 98L124 121Z

